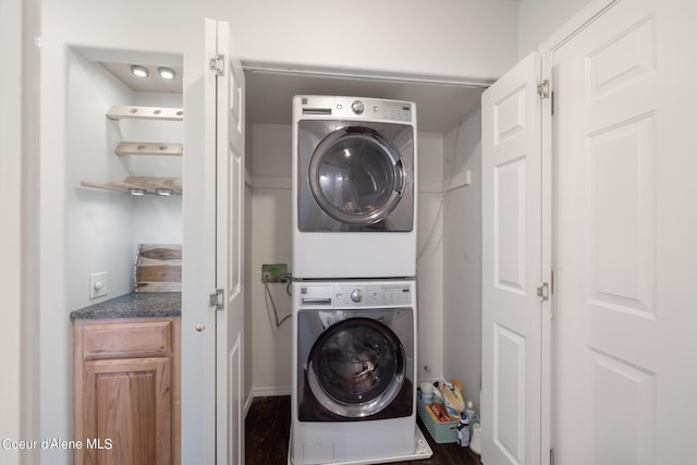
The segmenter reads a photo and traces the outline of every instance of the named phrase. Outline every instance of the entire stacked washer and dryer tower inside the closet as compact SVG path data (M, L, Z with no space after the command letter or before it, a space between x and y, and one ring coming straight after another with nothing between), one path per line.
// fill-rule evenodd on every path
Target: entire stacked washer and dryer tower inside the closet
M415 450L416 192L414 103L294 97L294 465L430 455Z

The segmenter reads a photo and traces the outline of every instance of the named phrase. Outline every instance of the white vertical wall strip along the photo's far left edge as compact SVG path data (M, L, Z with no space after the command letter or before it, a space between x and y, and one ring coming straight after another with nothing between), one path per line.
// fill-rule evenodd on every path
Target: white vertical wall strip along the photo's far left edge
M38 438L38 2L0 2L0 438ZM36 453L0 449L0 463Z

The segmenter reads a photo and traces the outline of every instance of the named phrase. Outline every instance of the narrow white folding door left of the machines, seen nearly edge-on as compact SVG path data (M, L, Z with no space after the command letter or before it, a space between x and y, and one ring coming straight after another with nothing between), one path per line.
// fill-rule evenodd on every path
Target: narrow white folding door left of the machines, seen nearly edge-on
M210 21L217 53L216 463L244 463L244 72L228 23Z

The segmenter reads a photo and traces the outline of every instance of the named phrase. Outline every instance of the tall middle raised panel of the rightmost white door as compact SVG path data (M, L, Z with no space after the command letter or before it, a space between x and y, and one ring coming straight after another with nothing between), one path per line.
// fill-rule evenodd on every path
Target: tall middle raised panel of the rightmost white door
M588 294L595 305L653 313L655 115L588 135Z

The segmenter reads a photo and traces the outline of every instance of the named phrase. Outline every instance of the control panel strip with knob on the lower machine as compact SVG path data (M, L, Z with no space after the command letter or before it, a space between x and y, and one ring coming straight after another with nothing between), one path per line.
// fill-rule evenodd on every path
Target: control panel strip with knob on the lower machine
M340 282L340 283L296 283L298 292L296 298L301 308L332 307L332 308L375 308L403 307L416 304L415 285L413 281L370 283L370 282Z

